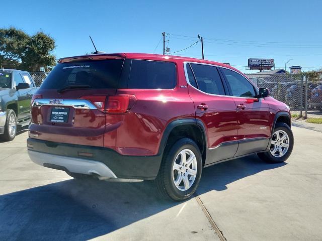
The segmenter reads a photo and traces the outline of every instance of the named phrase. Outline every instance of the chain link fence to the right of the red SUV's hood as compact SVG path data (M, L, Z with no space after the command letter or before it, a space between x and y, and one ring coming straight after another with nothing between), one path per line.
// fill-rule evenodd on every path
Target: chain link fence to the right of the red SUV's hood
M271 96L290 106L292 124L322 132L322 74L247 74Z

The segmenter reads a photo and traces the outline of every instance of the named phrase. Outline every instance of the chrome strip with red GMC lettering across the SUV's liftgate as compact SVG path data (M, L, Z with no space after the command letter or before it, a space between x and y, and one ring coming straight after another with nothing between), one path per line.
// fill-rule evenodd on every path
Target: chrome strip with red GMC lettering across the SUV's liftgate
M76 109L97 109L97 107L86 99L61 99L62 103L50 103L53 99L35 99L32 106L41 107L43 105L51 106L72 106ZM59 99L60 100L60 99Z

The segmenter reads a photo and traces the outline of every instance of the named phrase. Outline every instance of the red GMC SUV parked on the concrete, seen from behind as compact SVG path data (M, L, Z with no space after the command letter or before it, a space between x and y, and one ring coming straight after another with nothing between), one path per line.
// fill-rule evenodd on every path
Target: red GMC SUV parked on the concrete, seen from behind
M293 135L289 107L230 66L117 53L58 60L33 95L27 146L72 177L155 179L183 200L203 167L254 153L284 162Z

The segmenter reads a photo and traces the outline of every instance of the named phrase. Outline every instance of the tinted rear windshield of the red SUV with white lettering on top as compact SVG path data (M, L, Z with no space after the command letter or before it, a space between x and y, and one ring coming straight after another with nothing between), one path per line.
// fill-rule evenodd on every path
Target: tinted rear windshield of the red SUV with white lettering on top
M50 72L40 89L61 89L68 85L89 85L95 89L118 86L124 59L59 63Z

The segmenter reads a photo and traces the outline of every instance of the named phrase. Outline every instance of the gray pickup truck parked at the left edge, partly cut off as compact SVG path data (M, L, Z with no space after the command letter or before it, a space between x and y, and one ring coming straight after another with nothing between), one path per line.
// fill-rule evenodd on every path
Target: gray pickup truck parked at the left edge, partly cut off
M17 127L29 125L30 101L36 90L28 72L0 69L0 139L12 141Z

